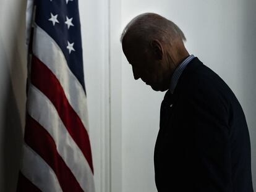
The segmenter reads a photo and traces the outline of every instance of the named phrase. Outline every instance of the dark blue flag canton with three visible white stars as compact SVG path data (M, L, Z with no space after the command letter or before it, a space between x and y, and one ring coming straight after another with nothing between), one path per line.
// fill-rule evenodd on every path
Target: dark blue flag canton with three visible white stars
M61 48L67 65L85 91L78 0L37 0L35 23Z

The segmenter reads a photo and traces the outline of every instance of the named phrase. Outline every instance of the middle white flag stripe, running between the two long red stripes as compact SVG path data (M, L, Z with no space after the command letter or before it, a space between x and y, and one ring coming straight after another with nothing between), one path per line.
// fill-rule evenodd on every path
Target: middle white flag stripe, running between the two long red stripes
M69 135L51 101L33 85L30 85L28 90L27 110L28 114L52 136L59 155L82 189L93 192L95 188L93 173L82 151Z

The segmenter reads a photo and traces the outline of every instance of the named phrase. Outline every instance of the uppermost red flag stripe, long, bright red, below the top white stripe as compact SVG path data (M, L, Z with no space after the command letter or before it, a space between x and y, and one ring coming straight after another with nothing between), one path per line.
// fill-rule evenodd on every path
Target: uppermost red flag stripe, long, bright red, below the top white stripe
M77 113L72 106L70 106L59 80L54 73L35 56L32 57L31 80L32 84L43 92L53 103L67 131L69 131L70 136L72 136L75 143L77 143L83 152L93 172L92 152L87 130L83 126ZM72 86L71 83L70 86Z

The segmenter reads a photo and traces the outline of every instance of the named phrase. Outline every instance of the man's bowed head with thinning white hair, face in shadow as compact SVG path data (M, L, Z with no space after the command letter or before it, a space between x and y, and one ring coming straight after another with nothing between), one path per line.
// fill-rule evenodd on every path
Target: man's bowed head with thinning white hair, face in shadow
M121 36L122 49L132 65L135 80L141 78L155 91L169 89L177 65L189 56L179 27L158 14L132 19Z

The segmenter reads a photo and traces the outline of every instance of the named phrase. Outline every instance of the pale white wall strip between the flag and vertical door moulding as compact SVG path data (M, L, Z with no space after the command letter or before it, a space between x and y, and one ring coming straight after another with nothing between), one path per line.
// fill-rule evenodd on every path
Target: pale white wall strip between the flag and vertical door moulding
M109 189L108 2L79 1L95 188Z

